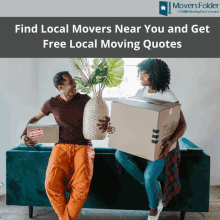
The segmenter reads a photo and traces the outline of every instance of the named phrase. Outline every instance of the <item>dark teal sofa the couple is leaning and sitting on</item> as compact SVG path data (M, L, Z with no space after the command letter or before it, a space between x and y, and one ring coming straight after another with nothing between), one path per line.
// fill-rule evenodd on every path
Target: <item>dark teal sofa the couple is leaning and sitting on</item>
M179 144L182 189L163 211L179 211L183 220L186 212L209 211L210 156L204 151L189 150L197 146L186 138L181 138ZM30 218L34 206L51 206L44 186L51 150L52 147L20 144L6 152L6 205L28 206ZM95 148L94 175L84 208L149 210L144 187L117 167L115 151ZM144 159L140 159L140 167L146 167ZM66 196L69 197L68 192Z

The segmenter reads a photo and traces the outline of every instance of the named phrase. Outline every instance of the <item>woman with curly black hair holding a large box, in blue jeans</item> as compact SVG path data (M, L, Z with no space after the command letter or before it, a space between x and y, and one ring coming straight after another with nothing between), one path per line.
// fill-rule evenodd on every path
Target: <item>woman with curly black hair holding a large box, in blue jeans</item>
M170 69L164 61L160 59L143 60L138 64L138 76L140 76L141 85L144 86L144 88L139 89L136 96L168 102L178 102L174 93L169 89ZM101 129L108 129L108 131L111 131L111 127L106 126L106 122L109 123L109 120L109 118L100 120L100 122L103 123L100 125ZM121 166L145 186L150 206L148 220L158 220L163 207L165 207L170 199L180 191L178 171L178 164L180 162L179 146L171 152L169 152L169 150L173 143L183 136L185 130L186 122L181 111L180 121L176 131L169 140L163 143L159 159L156 161L148 161L144 173L140 170L135 161L137 156L119 150L116 151L115 156ZM159 199L161 187L158 177L163 171L165 174L165 188L162 198Z

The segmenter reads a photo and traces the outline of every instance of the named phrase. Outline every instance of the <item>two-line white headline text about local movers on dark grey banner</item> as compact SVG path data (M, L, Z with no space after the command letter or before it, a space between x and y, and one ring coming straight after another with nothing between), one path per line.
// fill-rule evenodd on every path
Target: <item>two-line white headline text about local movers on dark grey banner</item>
M70 30L72 28L72 30ZM152 25L143 25L142 26L124 26L124 25L115 25L114 30L111 26L82 26L82 25L72 25L66 24L64 26L45 26L35 24L34 26L25 26L23 24L15 25L15 33L57 33L57 34L66 34L66 33L100 33L100 34L139 34L140 31L144 29L146 34L148 33L188 33L190 30L192 33L210 33L210 27L199 26L197 24L188 27L188 24L184 26L169 26L165 29L164 26L152 26ZM90 35L91 36L91 35ZM151 50L152 48L181 48L182 42L178 41L152 41L149 39L140 41L128 41L124 39L122 41L111 41L110 39L93 39L91 41L76 41L70 39L67 43L66 41L50 41L49 39L43 40L43 48L132 48L134 50L140 50L140 45L143 45L144 48Z

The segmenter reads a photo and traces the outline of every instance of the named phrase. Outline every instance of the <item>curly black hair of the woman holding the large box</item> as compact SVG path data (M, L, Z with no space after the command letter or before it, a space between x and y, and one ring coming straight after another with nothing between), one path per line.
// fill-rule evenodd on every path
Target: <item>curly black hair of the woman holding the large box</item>
M160 59L146 59L138 65L138 76L142 72L149 74L149 81L153 90L164 92L169 89L170 69L168 65Z

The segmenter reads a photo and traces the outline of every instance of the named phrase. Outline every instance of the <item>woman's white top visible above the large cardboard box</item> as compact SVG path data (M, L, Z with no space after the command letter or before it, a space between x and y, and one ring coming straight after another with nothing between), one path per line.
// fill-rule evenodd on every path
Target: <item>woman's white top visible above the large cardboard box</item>
M167 89L163 93L161 91L155 92L155 93L149 93L148 88L149 88L148 86L144 86L144 88L139 89L135 96L147 97L147 98L151 98L151 99L158 99L158 100L167 101L167 102L177 102L178 101L178 99L176 98L176 96L174 95L174 93L170 89Z

